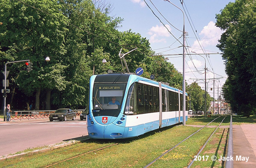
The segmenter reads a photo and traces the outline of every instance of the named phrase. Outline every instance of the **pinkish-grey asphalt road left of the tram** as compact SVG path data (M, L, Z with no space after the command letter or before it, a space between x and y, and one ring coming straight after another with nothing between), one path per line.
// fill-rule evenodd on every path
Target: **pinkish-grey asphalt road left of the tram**
M0 122L0 156L88 135L87 122L49 119Z

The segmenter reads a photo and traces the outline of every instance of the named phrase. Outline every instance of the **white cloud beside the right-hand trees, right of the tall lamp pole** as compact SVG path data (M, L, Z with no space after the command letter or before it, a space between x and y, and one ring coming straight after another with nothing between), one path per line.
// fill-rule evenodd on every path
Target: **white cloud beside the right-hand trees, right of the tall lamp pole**
M210 21L207 26L204 26L203 30L199 33L201 36L201 40L199 43L203 48L207 46L216 46L218 44L218 40L221 37L221 34L224 31L222 31L219 27L215 26L215 23L213 21ZM201 52L199 50L201 46L199 45L198 41L195 41L192 48L195 52ZM197 51L196 51L197 50Z

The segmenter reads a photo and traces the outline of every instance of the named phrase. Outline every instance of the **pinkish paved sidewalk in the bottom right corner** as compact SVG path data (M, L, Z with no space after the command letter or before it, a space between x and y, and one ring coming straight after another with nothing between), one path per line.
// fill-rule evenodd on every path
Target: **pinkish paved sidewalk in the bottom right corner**
M234 168L256 168L256 124L233 125L233 159Z

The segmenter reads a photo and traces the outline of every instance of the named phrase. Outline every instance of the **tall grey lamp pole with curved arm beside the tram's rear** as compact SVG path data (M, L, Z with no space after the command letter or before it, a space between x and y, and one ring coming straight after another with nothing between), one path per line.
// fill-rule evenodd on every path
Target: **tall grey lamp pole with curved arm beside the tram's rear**
M172 5L174 5L175 7L177 7L178 9L181 10L182 14L183 14L183 82L182 82L182 91L183 91L183 125L186 125L186 118L185 118L185 113L186 113L186 81L185 81L185 15L184 12L181 8L179 8L178 6L176 6L175 4L173 4L172 2L170 2L170 0L164 0L164 1L168 1L169 3L171 3Z

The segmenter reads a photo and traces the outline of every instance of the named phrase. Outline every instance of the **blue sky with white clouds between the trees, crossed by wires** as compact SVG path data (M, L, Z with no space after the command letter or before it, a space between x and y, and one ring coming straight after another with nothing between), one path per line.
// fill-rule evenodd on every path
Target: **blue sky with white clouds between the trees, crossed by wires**
M225 83L227 75L221 51L216 47L224 31L215 26L215 17L229 2L235 0L183 0L183 5L181 1L110 0L110 15L124 19L119 31L130 29L148 39L156 55L167 57L168 62L182 74L184 25L186 82L197 82L205 89L206 66L207 92L217 98L218 86ZM214 85L213 95L213 89L210 88Z

